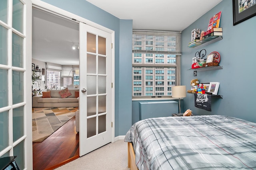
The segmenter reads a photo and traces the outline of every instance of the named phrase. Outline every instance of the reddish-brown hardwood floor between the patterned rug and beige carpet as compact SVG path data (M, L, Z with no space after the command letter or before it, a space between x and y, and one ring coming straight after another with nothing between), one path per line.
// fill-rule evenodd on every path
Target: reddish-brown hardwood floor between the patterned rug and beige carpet
M75 117L40 143L33 143L33 170L53 170L79 158Z

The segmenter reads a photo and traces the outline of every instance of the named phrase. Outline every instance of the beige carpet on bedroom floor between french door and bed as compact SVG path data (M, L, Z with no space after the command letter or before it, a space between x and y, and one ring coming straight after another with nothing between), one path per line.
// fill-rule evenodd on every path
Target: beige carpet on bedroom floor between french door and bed
M130 170L127 142L119 140L109 143L56 170Z

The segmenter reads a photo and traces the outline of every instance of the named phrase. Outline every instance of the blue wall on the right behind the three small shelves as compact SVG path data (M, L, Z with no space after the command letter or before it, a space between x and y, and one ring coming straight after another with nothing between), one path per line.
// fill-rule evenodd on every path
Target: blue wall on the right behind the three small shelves
M192 29L207 30L210 18L220 11L223 39L197 50L188 48ZM181 84L190 89L190 80L194 78L200 82L220 82L218 94L224 97L212 100L210 112L194 107L194 95L187 94L183 110L189 108L195 115L228 115L256 122L256 16L233 26L232 13L232 0L223 0L182 31ZM223 69L197 72L194 77L193 70L187 69L191 68L196 51L202 49L206 49L206 55L218 51L221 56L219 65L223 65Z

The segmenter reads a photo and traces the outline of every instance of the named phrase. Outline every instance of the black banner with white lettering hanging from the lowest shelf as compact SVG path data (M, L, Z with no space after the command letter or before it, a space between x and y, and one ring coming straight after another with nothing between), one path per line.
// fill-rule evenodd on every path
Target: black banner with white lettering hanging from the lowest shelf
M208 94L195 93L195 107L212 111L211 96Z

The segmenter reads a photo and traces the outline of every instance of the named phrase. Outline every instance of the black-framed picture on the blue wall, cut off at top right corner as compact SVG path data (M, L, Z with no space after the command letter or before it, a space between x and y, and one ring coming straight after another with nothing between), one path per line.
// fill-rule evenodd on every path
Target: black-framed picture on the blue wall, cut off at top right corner
M233 25L248 20L253 16L256 16L256 2L251 0L250 2L241 0L233 1ZM242 4L244 3L244 4Z

